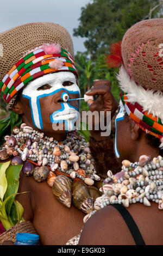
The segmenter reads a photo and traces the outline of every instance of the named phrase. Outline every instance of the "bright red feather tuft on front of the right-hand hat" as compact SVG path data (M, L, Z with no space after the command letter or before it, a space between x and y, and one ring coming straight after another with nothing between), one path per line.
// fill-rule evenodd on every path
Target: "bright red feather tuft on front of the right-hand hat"
M115 42L110 46L110 54L106 54L105 60L108 68L117 68L122 63L121 43L122 41Z

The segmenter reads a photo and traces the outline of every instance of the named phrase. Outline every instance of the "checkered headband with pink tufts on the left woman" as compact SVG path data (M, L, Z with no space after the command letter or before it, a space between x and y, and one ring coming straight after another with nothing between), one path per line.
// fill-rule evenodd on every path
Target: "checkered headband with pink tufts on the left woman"
M45 45L18 60L0 82L0 92L5 102L10 100L29 81L56 71L78 73L69 52L56 46Z

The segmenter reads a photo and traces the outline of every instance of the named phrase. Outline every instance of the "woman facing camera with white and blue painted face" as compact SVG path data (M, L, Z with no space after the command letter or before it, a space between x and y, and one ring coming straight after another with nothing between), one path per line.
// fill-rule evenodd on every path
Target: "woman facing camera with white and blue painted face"
M17 230L36 232L42 245L64 245L79 233L83 217L93 207L87 185L93 185L92 174L96 174L88 144L74 131L79 101L73 99L80 97L80 89L72 39L65 28L49 22L12 28L0 34L0 39L4 46L0 58L1 95L12 111L12 125L18 125L10 134L3 129L1 136L6 141L0 159L17 157L12 163L23 164L18 192L30 192L16 196L24 209L25 224L22 230L21 223L14 227L14 234ZM86 164L79 159L80 154ZM79 167L82 163L83 169ZM89 174L86 168L90 164ZM96 175L96 179L100 177ZM72 195L73 184L87 191L82 204L78 197L74 198L78 190ZM99 196L97 188L95 191ZM12 240L7 234L7 240ZM5 239L7 234L4 232Z

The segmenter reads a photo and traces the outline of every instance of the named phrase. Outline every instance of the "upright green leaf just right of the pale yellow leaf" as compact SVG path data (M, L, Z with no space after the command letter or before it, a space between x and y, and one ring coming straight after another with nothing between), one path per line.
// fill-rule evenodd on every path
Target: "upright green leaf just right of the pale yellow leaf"
M18 179L19 179L22 167L23 167L22 164L18 164L16 166L9 166L8 169L6 170L6 178L7 178L7 182L8 182L8 187L4 194L4 199L9 197L10 194L17 193L18 186L19 186ZM16 196L16 194L15 194L15 196ZM14 199L15 199L15 197L11 197L6 204L6 210L7 210L8 215L10 214L11 206L12 206L12 203L14 202Z

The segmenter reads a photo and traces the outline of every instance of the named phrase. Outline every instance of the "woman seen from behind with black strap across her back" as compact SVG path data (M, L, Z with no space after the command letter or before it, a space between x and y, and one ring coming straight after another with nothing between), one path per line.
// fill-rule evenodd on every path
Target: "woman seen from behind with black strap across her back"
M123 37L114 144L122 168L108 171L80 245L162 245L162 28L163 19L145 20ZM87 95L100 94L93 87Z

